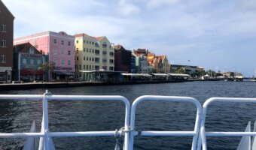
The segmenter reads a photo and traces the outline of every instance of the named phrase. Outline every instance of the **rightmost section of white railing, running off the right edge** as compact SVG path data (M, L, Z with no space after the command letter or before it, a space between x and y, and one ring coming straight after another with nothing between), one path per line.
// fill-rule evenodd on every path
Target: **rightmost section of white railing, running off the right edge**
M197 144L198 148L201 148L201 145L202 145L203 150L207 150L206 136L256 136L255 132L206 132L205 122L206 122L207 108L213 102L255 103L256 98L209 98L208 100L206 100L206 102L203 104L203 115L202 115L202 120L200 124L201 140L198 140L198 144Z

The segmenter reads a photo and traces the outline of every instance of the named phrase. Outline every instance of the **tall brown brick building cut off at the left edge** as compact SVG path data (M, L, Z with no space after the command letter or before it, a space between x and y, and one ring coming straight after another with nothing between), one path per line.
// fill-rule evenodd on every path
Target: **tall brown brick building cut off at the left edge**
M14 15L0 1L0 82L11 83L13 69Z

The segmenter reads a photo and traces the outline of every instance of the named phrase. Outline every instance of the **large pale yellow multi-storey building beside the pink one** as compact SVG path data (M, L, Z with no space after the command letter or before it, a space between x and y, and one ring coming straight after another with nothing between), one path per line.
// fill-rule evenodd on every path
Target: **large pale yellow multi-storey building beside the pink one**
M91 71L114 71L114 44L105 36L75 34L76 78L91 80Z

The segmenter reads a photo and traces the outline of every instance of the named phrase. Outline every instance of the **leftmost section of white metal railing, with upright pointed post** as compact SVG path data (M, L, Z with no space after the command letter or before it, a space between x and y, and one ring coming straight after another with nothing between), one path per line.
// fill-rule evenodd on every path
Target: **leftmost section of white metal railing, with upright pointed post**
M120 131L89 131L89 132L50 132L48 130L48 111L47 101L122 101L125 104L125 122L124 130L129 130L130 125L130 102L123 96L89 96L89 95L50 95L47 91L44 95L0 95L0 100L15 100L15 101L43 101L43 121L41 132L39 133L0 133L0 138L14 137L55 137L55 136L115 136ZM127 150L129 133L124 132L123 149ZM41 140L44 143L46 150L49 149L49 140Z

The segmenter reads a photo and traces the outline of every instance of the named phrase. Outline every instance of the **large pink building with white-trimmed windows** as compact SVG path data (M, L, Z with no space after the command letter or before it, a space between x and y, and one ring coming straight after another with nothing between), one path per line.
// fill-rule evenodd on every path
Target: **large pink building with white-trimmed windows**
M46 31L14 39L14 46L31 43L36 49L49 55L49 62L55 62L50 80L64 80L75 72L75 37L64 31ZM74 77L74 76L73 76Z

